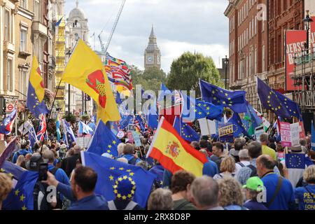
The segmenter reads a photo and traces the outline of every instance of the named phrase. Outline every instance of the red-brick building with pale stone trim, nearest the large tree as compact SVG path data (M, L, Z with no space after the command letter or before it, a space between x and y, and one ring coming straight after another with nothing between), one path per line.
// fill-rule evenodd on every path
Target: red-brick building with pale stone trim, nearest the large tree
M245 90L258 108L255 77L267 77L267 0L230 0L225 16L230 21L230 89Z

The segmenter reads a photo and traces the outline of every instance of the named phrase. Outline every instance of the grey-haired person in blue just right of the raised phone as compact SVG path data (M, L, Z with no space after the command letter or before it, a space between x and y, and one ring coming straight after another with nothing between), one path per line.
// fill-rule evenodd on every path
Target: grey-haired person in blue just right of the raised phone
M43 159L48 161L48 171L52 173L52 175L55 176L57 181L64 183L66 185L70 186L69 178L66 176L66 173L63 169L55 167L54 161L55 161L55 155L50 150L46 150L43 152Z

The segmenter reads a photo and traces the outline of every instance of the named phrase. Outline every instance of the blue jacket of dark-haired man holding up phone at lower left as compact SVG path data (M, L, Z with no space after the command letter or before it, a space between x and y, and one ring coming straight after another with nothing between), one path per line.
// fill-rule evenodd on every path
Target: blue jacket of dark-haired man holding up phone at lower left
M109 210L107 201L102 195L90 195L81 200L76 200L73 196L70 186L59 183L57 191L62 193L66 198L71 200L71 207L68 210Z

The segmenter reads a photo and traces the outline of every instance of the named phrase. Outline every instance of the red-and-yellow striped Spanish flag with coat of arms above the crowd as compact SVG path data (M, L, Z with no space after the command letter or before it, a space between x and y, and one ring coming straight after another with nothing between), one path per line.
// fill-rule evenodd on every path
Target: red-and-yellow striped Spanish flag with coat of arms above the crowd
M206 156L183 140L164 117L155 132L147 157L149 156L158 160L172 174L184 169L195 176L202 176L204 163L208 162Z

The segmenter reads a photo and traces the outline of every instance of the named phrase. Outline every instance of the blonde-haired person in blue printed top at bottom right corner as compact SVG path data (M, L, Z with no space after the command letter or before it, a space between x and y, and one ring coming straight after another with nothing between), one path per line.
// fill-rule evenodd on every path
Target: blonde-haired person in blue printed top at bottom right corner
M307 185L295 188L295 200L299 204L299 210L315 210L315 165L305 169L303 179Z

